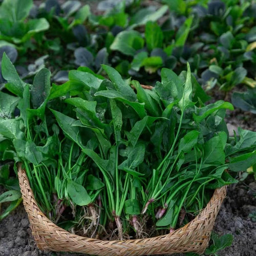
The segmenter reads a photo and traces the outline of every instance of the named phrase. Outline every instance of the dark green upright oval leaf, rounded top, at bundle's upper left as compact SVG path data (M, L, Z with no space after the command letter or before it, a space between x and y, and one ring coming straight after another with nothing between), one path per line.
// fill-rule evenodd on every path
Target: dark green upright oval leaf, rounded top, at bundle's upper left
M37 109L48 98L50 94L50 75L48 69L41 69L34 78L31 89L31 101L33 107Z

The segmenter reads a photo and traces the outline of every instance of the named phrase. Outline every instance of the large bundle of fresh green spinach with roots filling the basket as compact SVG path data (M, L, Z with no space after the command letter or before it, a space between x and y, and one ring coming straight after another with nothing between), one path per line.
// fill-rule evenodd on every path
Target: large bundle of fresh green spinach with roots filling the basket
M205 106L189 65L179 76L162 69L152 90L106 65L110 80L81 68L52 86L47 69L29 85L6 54L1 66L0 158L22 163L39 207L67 230L101 239L171 232L236 182L230 171L256 162L256 133L229 137L232 104Z

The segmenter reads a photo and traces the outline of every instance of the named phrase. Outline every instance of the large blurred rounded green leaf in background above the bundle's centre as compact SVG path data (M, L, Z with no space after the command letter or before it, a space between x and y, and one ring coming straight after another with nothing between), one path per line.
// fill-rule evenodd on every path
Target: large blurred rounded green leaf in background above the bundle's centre
M110 45L111 50L117 50L125 55L134 56L136 51L142 49L144 40L137 31L122 31L117 34L113 43Z

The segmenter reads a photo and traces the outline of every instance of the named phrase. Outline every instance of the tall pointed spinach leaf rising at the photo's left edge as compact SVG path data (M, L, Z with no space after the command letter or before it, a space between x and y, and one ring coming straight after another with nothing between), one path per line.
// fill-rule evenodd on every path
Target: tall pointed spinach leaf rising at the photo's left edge
M8 84L5 85L6 88L13 94L22 98L25 83L20 79L12 62L5 52L3 53L1 68L3 78L8 81Z

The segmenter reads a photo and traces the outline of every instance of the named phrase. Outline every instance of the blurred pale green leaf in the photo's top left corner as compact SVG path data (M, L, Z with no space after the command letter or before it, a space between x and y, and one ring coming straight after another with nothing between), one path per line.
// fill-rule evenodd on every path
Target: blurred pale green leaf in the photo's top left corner
M32 0L4 0L0 6L0 19L8 19L12 23L24 20L32 6Z

